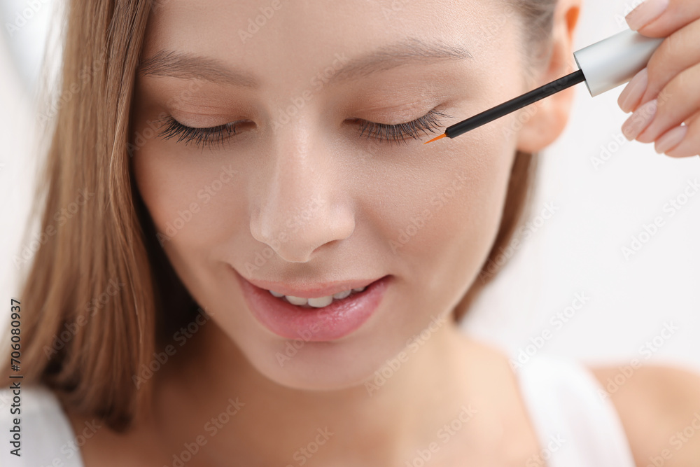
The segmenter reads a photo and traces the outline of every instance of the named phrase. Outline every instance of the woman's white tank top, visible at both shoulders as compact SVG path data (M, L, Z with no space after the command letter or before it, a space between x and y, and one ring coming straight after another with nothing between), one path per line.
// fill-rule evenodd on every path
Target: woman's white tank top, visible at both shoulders
M516 371L521 393L540 440L540 458L526 467L635 467L622 422L592 373L577 361L537 354ZM43 386L21 389L21 456L8 445L13 393L0 390L0 466L85 467L80 446L99 426L78 433L58 399ZM9 447L8 447L9 446Z

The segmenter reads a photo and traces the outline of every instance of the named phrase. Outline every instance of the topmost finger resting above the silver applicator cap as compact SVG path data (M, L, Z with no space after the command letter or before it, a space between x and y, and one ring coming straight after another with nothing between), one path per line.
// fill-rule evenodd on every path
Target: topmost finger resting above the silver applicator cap
M650 37L668 37L698 18L697 0L645 0L625 17L630 29Z

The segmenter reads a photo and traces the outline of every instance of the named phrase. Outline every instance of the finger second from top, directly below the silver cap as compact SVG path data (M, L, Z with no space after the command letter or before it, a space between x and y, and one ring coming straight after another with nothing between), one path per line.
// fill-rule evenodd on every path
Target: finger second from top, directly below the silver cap
M695 20L668 36L654 51L647 63L647 88L637 106L657 97L674 76L698 63L700 20Z

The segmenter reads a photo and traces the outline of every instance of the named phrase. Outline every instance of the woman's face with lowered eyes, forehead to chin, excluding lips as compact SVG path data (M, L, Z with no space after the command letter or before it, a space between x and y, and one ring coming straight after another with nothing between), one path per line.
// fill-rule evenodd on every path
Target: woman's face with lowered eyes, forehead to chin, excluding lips
M468 290L498 230L518 113L423 142L526 90L518 25L491 0L155 2L137 185L179 277L263 375L358 384ZM417 139L377 126L430 115L434 134L416 123ZM166 139L169 116L223 132ZM359 328L299 336L281 362L293 340L258 321L236 272L288 288L391 277Z

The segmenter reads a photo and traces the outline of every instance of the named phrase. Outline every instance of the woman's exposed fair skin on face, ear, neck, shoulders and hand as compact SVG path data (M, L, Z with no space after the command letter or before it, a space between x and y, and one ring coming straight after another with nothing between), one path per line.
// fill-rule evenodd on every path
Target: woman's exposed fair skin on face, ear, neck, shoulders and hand
M640 32L682 30L690 23L680 18L695 18L696 24L697 3L671 1L668 18ZM320 8L316 2L290 1L246 44L238 29L269 2L169 0L149 23L144 57L162 48L204 55L256 74L262 85L243 90L182 77L139 78L132 123L141 135L162 111L197 127L239 118L250 123L225 148L200 151L156 137L146 138L134 154L137 186L160 232L179 211L200 203L200 211L164 249L211 321L156 372L155 404L146 419L123 435L100 428L81 447L86 467L172 466L174 456L199 436L207 442L185 463L188 467L300 465L298 455L311 467L404 466L430 442L442 440L438 431L460 416L462 406L473 407L475 414L440 444L430 465L523 466L538 459L542 447L507 356L465 336L449 320L379 391L369 396L363 382L432 319L448 314L475 280L496 235L515 151L540 151L559 137L573 90L542 100L523 120L513 113L454 141L427 146L422 142L430 135L393 148L370 144L358 138L352 119L402 123L441 106L458 121L570 73L580 0L559 2L551 54L542 67L530 70L532 81L524 73L503 74L503 69L524 71L524 63L517 53L519 23L500 9L500 2L402 2L391 10L392 4L324 1ZM385 16L381 6L393 13ZM279 109L303 96L336 53L360 57L409 31L423 41L463 41L472 60L416 62L324 86L272 131ZM688 31L694 41L680 41L687 46L685 54L665 53L662 46L654 55L649 67L653 88L640 102L653 99L651 89L666 86L678 87L672 95L700 93L700 81L679 65L685 59L673 59L692 55L700 43L700 36ZM697 69L698 62L688 67ZM664 80L661 69L669 67L678 73ZM459 82L468 85L455 87ZM183 98L173 99L178 96ZM685 109L688 100L675 106ZM698 147L694 121L689 149L683 142L672 155L691 155ZM209 193L207 187L228 165L237 178ZM435 210L419 235L394 254L389 241L460 172L466 181L454 199ZM198 196L201 190L209 194L207 203ZM307 209L314 198L323 202L305 228L286 230L290 213ZM259 270L246 270L246 260L281 232L288 239L275 255ZM392 274L394 282L377 313L356 333L332 343L306 342L291 361L279 365L275 355L288 341L251 316L230 267L246 277L279 281ZM593 371L605 384L619 370ZM230 399L244 405L235 414L228 412L223 424L220 415L232 410ZM637 465L646 466L700 411L700 376L660 366L639 368L610 399ZM80 431L86 420L69 415L73 429ZM221 424L214 424L215 435L212 418ZM325 427L333 434L321 443L318 430ZM318 444L312 456L297 454L311 442ZM696 459L700 433L674 450L664 466L695 466Z

